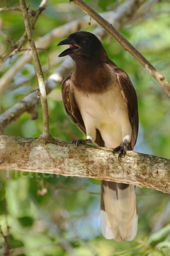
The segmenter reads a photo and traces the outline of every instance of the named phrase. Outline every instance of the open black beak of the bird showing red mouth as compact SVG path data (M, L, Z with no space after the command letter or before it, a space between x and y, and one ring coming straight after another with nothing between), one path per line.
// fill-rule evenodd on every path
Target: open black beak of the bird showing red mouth
M74 42L73 40L71 40L69 37L67 37L66 39L63 39L61 42L59 42L59 44L57 44L57 46L59 45L64 45L64 44L69 44L70 48L66 49L64 52L62 52L59 57L64 57L66 55L70 55L70 54L74 54L77 52L77 50L80 48L80 46L78 46L76 44L76 42Z

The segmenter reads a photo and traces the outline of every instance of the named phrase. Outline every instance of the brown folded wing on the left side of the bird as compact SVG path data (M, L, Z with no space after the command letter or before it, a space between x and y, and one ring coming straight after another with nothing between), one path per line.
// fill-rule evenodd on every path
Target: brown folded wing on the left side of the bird
M71 120L76 124L76 126L80 129L80 131L86 135L86 128L84 126L84 122L80 114L80 110L78 109L78 106L76 104L74 93L70 88L70 79L72 74L73 72L64 79L62 84L62 97L63 97L64 108L68 116L70 116ZM97 129L96 129L95 143L98 146L104 147L104 140L102 139L102 136L100 135L100 132Z

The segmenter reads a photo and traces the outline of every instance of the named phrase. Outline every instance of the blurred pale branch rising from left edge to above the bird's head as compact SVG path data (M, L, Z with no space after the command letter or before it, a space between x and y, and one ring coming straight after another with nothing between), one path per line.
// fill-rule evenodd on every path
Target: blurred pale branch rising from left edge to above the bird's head
M127 18L133 17L135 15L135 11L139 8L140 5L136 4L136 0L128 0L124 4L121 4L117 7L115 12L104 12L101 15L109 20L116 27L120 27L127 21ZM37 42L35 42L37 48L47 48L54 40L57 38L61 38L64 36L68 36L77 30L80 30L83 26L87 26L89 22L89 17L86 15L82 18L78 18L77 20L73 20L72 22L66 23L63 26L53 29L45 36L39 38ZM94 20L91 21L92 25L96 25ZM104 39L107 35L106 30L103 28L97 28L95 33L100 40ZM100 36L102 35L102 37ZM28 53L27 55L21 56L19 60L17 60L13 66L0 78L0 94L4 91L4 88L12 81L14 76L18 71L26 64L31 62L32 55Z

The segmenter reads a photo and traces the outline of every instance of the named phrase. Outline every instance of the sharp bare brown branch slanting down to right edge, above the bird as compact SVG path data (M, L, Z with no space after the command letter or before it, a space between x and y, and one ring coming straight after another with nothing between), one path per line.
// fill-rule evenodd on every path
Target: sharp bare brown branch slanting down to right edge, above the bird
M109 24L100 14L95 12L90 6L88 6L82 0L70 0L74 2L80 9L86 12L92 19L96 20L100 26L111 34L123 47L124 50L128 51L160 84L164 91L170 96L170 84L166 81L164 76L162 76L154 66L126 39L122 36L113 26Z

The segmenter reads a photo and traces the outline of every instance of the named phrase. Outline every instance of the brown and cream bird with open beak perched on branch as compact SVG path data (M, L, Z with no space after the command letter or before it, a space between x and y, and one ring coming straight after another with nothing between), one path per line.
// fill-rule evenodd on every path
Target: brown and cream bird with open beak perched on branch
M139 117L137 95L125 71L107 56L94 34L78 31L57 46L69 45L59 57L69 55L76 64L62 84L66 113L86 135L73 140L81 146L95 143L119 151L133 150L137 140ZM101 180L101 230L106 239L131 241L137 234L136 187Z

